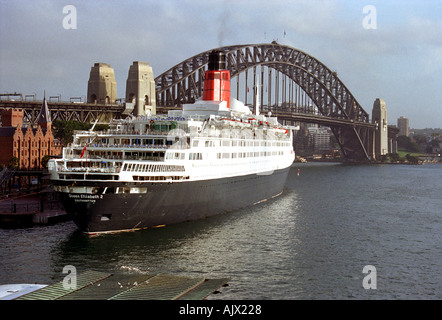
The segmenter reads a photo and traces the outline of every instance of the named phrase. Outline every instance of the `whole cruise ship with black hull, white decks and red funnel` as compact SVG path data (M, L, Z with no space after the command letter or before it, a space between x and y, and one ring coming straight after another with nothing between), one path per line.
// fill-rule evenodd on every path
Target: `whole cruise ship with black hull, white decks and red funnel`
M48 163L55 191L89 234L202 219L274 198L293 163L293 127L230 96L212 52L201 100L168 114L76 131Z

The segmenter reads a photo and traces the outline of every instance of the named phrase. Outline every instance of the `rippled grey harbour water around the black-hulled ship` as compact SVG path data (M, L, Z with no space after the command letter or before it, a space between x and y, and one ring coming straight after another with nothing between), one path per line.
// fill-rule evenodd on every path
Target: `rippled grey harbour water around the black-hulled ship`
M441 190L441 165L295 164L279 198L201 221L0 229L0 283L54 283L73 265L231 279L209 299L441 299Z

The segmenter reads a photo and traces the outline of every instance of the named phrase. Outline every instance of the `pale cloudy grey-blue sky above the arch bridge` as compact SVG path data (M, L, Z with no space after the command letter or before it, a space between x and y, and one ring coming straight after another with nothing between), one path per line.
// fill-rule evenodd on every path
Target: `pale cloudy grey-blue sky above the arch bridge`
M370 115L381 98L389 124L442 128L440 0L0 0L0 93L85 99L104 62L124 98L133 61L156 77L210 49L273 40L336 70Z

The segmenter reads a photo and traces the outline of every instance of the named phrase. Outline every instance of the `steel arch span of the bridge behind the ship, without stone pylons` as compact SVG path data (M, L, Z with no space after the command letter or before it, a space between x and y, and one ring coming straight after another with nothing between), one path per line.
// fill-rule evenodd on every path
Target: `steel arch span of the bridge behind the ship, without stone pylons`
M285 121L327 125L332 129L347 159L357 161L371 159L375 124L369 122L369 114L338 78L337 73L311 55L276 42L225 46L184 60L155 78L157 105L174 107L181 103L192 103L200 98L203 93L208 56L213 50L223 51L226 54L227 68L231 72L232 80L237 77L237 95L240 91L240 74L245 74L245 85L243 83L242 86L246 87L244 90L248 90L248 71L252 69L253 87L262 86L261 101L263 101L265 77L262 70L267 68L267 110ZM256 77L257 67L261 68L260 79ZM272 70L276 77L274 82L271 79ZM315 105L316 112L312 112L311 106L304 105L300 108L299 103L294 104L293 101L280 105L279 92L287 89L278 88L279 74L296 83L300 90L308 95L311 103ZM273 91L272 86L275 87ZM286 84L284 86L287 88ZM294 89L292 96L293 91ZM274 105L271 104L272 97L275 99ZM247 94L245 100L247 104ZM255 100L253 102L255 103Z

